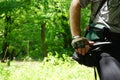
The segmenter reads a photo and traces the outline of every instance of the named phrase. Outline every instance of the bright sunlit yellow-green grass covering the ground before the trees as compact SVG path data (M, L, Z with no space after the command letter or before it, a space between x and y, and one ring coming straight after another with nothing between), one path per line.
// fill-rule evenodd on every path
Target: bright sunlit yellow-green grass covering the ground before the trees
M94 80L93 68L72 59L50 57L40 61L12 61L0 64L0 80Z

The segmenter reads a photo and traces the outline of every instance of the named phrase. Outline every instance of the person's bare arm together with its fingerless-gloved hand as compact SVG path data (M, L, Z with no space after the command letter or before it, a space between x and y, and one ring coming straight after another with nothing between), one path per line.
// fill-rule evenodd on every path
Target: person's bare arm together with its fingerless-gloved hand
M70 28L72 34L72 46L78 54L85 55L89 49L89 44L94 44L85 38L81 37L81 6L80 0L73 0L70 6Z

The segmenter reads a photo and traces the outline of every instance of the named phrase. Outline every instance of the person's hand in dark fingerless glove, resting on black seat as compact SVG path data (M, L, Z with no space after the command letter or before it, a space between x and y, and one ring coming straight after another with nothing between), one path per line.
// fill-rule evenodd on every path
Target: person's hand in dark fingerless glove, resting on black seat
M81 55L85 55L89 49L90 45L93 45L93 41L89 41L85 37L77 37L72 40L72 46L75 49L75 51Z

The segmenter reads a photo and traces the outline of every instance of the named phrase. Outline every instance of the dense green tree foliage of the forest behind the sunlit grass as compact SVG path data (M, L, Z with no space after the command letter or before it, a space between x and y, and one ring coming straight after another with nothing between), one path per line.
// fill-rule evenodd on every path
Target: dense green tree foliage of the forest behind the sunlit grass
M0 6L0 54L5 51L3 45L6 42L11 54L14 51L22 58L42 58L43 23L46 29L47 53L58 52L60 56L72 54L69 0L1 0ZM89 18L88 8L82 13L82 26L86 26Z

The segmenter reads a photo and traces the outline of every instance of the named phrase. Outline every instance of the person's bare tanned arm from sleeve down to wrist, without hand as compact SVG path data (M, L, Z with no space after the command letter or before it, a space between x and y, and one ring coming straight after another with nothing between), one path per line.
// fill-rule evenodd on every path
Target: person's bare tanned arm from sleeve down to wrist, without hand
M72 36L80 36L81 35L81 29L80 29L80 1L79 0L73 0L70 6L70 28L71 28L71 34ZM76 4L77 3L77 4Z

